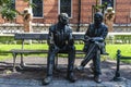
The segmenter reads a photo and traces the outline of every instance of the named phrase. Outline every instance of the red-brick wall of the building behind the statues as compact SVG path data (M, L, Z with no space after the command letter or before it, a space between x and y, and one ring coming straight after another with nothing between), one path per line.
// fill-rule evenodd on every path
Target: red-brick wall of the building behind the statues
M81 30L85 30L88 24L92 22L92 5L96 4L96 0L81 0ZM99 0L100 1L100 0ZM79 23L79 0L73 0L72 14L70 23L74 30L78 28ZM116 18L115 24L130 24L131 23L131 0L116 0ZM23 12L28 7L23 0L16 0L16 10ZM44 17L33 18L33 24L53 24L58 22L58 0L44 0ZM0 17L0 24L4 24L4 20ZM16 24L23 24L22 16L17 15L14 20ZM48 25L50 26L50 25ZM84 27L84 28L83 28Z

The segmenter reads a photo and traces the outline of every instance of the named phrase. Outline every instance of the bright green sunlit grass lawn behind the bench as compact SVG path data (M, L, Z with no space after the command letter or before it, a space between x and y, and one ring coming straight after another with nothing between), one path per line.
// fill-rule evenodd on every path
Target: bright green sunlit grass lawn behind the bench
M25 49L48 49L48 45L46 44L25 45L24 47ZM75 47L79 50L83 49L83 45L75 45ZM11 49L21 49L21 45L0 45L0 60L12 58L12 54L7 52L10 51ZM110 60L116 60L116 54L118 49L121 50L122 55L131 55L131 45L107 45L106 50L109 53Z

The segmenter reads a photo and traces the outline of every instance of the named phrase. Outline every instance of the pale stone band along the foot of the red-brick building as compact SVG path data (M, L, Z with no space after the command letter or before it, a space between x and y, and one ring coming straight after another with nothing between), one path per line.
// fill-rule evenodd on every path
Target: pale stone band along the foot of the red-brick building
M51 24L32 24L34 33L44 33L48 32L48 28ZM76 32L78 24L70 24L73 27L73 32ZM80 32L87 29L88 24L80 24ZM24 33L23 24L0 24L0 34L14 34L14 33ZM115 24L114 33L131 33L131 24Z

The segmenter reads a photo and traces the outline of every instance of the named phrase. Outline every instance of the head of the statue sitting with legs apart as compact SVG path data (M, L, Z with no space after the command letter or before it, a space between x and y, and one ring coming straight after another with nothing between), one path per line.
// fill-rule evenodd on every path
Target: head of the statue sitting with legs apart
M59 23L67 25L69 23L69 16L67 13L60 13L58 15Z

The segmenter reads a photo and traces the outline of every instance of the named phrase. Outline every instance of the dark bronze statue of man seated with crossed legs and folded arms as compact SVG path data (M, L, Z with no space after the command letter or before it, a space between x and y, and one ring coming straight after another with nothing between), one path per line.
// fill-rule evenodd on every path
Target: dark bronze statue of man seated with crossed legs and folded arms
M84 51L86 52L84 60L78 70L83 70L90 60L93 60L93 72L94 80L100 83L100 54L105 54L105 38L108 34L108 27L103 23L103 14L96 12L94 14L94 23L90 24L85 33L85 46Z

